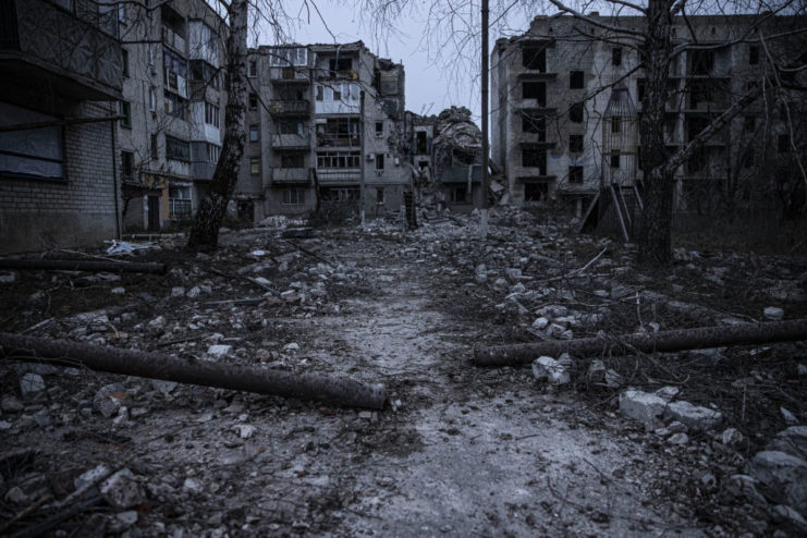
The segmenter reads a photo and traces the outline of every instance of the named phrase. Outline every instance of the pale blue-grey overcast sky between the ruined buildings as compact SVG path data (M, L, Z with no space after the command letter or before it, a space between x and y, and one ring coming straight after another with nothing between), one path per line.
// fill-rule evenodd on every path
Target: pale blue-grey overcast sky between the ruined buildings
M448 5L445 0L435 2L438 10L444 10ZM453 4L457 3L462 2ZM512 7L506 16L499 17L498 3L497 0L491 1L491 22L498 19L490 30L491 49L497 38L525 32L531 19L519 5ZM360 1L317 0L320 17L314 9L301 9L302 1L290 0L285 3L286 13L297 17L297 22L286 24L286 30L299 44L330 44L334 42L334 37L335 42L362 40L379 57L403 62L406 72L407 110L437 114L452 105L464 106L473 111L478 122L481 109L478 84L478 47L481 41L477 30L480 27L480 1L466 1L464 8L461 8L461 16L452 20L440 19L439 12L430 13L430 2L413 2L395 19L392 29L380 30L372 27L372 17L367 12L359 11L359 4ZM454 32L448 33L445 29L451 23L454 24ZM261 34L257 38L260 45L273 44L267 26L265 22L260 24ZM470 30L475 35L472 36ZM249 45L255 45L255 41L256 36L253 33ZM457 47L464 48L468 53L473 52L474 56L465 62L453 61L452 51Z

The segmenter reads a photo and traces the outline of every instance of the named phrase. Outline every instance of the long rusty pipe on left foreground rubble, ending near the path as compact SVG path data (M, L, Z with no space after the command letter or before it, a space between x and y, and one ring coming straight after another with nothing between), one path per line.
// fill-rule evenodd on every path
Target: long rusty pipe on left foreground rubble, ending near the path
M383 384L362 383L343 377L291 374L248 365L176 358L138 350L121 350L39 339L0 332L0 358L201 384L258 394L316 400L351 407L382 409L387 400Z

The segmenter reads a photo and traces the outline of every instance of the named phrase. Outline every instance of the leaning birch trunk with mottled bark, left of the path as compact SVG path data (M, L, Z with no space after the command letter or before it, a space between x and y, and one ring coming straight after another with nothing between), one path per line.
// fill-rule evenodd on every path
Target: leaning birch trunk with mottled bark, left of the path
M244 113L246 108L246 24L247 0L232 0L228 8L230 36L227 40L227 91L224 142L210 188L199 204L187 247L213 250L219 242L219 228L239 181L244 155Z

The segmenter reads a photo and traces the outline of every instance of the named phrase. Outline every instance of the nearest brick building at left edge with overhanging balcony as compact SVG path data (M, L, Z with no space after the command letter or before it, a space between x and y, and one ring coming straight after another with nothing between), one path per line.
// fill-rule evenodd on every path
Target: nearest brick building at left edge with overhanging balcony
M114 10L90 0L0 3L0 253L119 232Z

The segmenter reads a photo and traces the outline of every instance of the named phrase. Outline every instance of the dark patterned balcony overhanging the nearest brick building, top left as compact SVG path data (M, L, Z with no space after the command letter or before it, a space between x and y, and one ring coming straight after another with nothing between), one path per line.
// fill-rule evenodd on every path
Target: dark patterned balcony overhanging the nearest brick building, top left
M114 12L101 14L93 4L78 13L42 0L0 2L0 77L21 87L53 87L76 100L120 99Z

